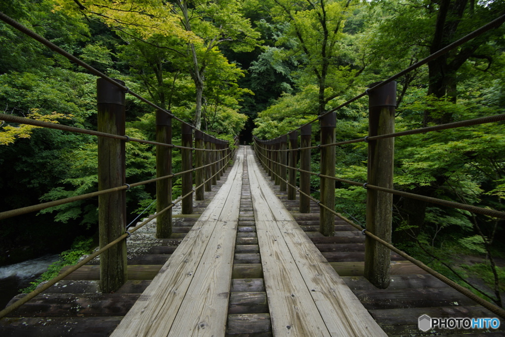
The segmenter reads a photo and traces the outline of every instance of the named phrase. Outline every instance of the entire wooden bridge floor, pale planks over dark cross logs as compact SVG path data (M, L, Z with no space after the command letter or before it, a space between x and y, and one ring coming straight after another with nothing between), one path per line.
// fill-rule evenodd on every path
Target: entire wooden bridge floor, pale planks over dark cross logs
M201 214L180 215L172 239L129 239L130 280L115 294L99 293L97 266L84 266L0 320L0 335L361 336L382 328L412 336L433 334L417 328L423 314L494 317L399 256L389 289L373 287L362 276L361 233L335 219L335 236L323 237L319 207L297 212L250 147L195 203ZM503 335L503 323L493 332L436 333Z

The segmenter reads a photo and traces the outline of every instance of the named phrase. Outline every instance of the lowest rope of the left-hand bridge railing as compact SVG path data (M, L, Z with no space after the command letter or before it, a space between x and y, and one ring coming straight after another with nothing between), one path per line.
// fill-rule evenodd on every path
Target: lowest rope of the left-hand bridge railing
M231 155L232 154L229 153L226 156L226 158L230 157ZM199 167L199 168L202 168L202 167ZM70 275L71 273L73 273L74 271L76 271L77 269L79 269L80 267L82 267L83 265L85 265L86 263L88 263L89 261L91 261L92 259L94 259L95 257L99 256L100 254L104 253L105 251L109 250L110 248L114 247L115 245L119 244L123 240L129 238L133 233L135 233L136 231L138 231L140 228L144 227L145 224L147 224L150 221L156 219L159 215L165 213L166 211L168 211L169 209L173 208L176 204L178 204L182 200L184 200L187 197L191 196L195 192L195 190L197 188L203 187L205 183L207 183L208 181L210 181L213 177L217 176L220 172L226 170L226 168L227 168L226 166L221 167L221 169L220 169L219 172L217 172L216 174L214 174L212 177L209 177L203 184L200 184L199 186L196 186L194 190L191 190L189 193L187 193L187 194L179 197L177 200L175 200L174 202L172 202L169 206L167 206L166 208L164 208L161 211L157 212L156 214L148 216L144 221L142 221L139 224L137 224L137 226L128 229L127 232L125 232L124 234L122 234L116 240L110 242L109 244L107 244L103 248L98 249L96 252L93 252L92 254L90 254L88 257L84 258L83 260L81 260L77 264L70 266L64 272L62 272L62 273L58 274L57 276L55 276L54 278L46 281L44 284L42 284L39 287L37 287L34 291L28 293L26 296L24 296L21 299L17 300L16 302L14 302L13 304L11 304L10 306L4 308L2 311L0 311L0 318L3 318L6 315L10 314L11 312L15 311L16 309L18 309L19 307L21 307L23 304L27 303L28 301L30 301L31 299L33 299L35 296L43 293L48 288L54 286L56 283L58 283L59 281L61 281L62 279L64 279L65 277L67 277L68 275ZM183 172L181 172L180 174L182 174L182 173ZM167 177L161 177L161 178L166 179ZM126 186L124 186L124 187L126 187Z

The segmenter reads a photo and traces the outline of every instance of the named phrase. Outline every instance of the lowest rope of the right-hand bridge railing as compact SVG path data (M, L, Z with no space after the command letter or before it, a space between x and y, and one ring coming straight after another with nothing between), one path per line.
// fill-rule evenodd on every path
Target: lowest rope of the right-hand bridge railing
M256 142L255 142L255 149L257 149L256 147ZM256 153L260 153L259 151L256 151ZM262 163L263 166L266 166L265 164L265 161L260 158L258 156L258 159L260 160L260 162ZM268 158L267 158L268 159ZM443 283L445 283L446 285L448 285L449 287L459 291L460 293L462 293L463 295L467 296L468 298L470 298L471 300L477 302L478 304L482 305L484 308L488 309L489 311L491 311L492 313L500 316L501 318L505 319L505 310L503 310L502 308L490 303L489 301L486 301L484 299L482 299L481 297L475 295L474 293L472 293L470 290L468 290L467 288L457 284L456 282L453 282L451 279L449 279L448 277L442 275L441 273L439 273L438 271L436 270L433 270L432 268L428 267L427 265L425 265L423 262L415 259L414 257L410 256L409 254L399 250L398 248L394 247L393 245L391 245L390 243L382 240L381 238L379 238L378 236L374 235L373 233L371 233L369 230L367 230L366 228L364 228L363 226L360 226L359 224L349 220L348 218L346 218L345 216L343 216L341 213L338 213L336 212L334 209L328 207L327 205L321 203L321 201L317 200L316 198L312 197L310 194L308 193L305 193L303 191L301 191L297 186L295 185L292 185L290 184L287 180L283 179L281 176L279 176L276 172L273 173L274 175L278 176L278 178L282 181L284 181L284 183L286 183L286 185L289 185L291 186L292 188L294 188L299 194L301 195L304 195L305 197L309 198L310 200L312 200L313 202L315 202L319 207L321 208L324 208L325 210L327 210L328 212L330 212L331 214L333 215L336 215L337 217L339 217L340 219L342 219L343 221L345 221L346 223L350 224L352 227L356 228L357 230L361 231L363 235L366 235L368 237L370 237L371 239L377 241L378 243L380 243L382 246L386 247L387 249L395 252L396 254L400 255L401 257L405 258L406 260L408 260L409 262L412 262L413 264L415 264L416 266L420 267L421 269L423 269L424 271L428 272L430 275L433 275L435 276L436 278L438 278L439 280L441 280ZM311 172L312 174L312 172ZM359 184L359 183L358 183ZM360 184L360 185L363 185L363 184ZM369 187L369 186L367 186ZM376 187L376 186L374 186Z

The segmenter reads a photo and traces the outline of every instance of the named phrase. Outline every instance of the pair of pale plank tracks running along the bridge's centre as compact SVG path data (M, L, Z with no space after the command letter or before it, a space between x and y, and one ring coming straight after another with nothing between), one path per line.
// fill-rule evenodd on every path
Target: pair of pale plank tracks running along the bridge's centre
M112 336L225 334L245 160L274 335L385 335L241 147L228 181Z

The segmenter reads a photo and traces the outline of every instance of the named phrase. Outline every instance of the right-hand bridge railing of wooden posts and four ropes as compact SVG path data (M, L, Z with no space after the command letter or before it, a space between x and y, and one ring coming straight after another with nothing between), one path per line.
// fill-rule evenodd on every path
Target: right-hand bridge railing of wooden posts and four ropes
M261 140L257 137L254 138L257 156L275 185L279 185L280 191L287 192L289 200L294 200L296 193L299 193L299 211L301 213L310 212L311 200L319 205L319 231L323 235L334 235L335 215L351 224L351 226L361 230L363 235L366 235L365 277L376 287L385 289L389 286L390 250L392 250L502 318L505 318L505 310L483 300L468 289L452 282L452 280L429 268L421 261L414 259L405 252L392 246L391 224L393 194L505 219L505 212L398 191L393 188L394 139L396 137L505 120L505 114L502 114L415 130L394 132L396 108L396 82L394 80L440 57L440 55L449 52L470 39L499 26L504 21L505 16L499 17L460 40L429 55L426 59L421 60L408 69L395 74L385 81L373 83L370 85L370 88L362 94L327 111L321 116L318 116L317 119L285 135L270 140ZM364 96L368 96L369 98L368 136L337 142L335 140L335 111ZM321 141L320 144L313 146L311 144L312 125L315 122L319 122ZM299 147L298 137L300 139ZM356 182L341 177L335 177L335 147L358 142L365 142L368 144L367 181ZM320 152L320 172L310 171L311 150L313 149L319 150ZM298 153L300 156L299 167L296 165ZM297 174L299 174L298 177ZM311 196L311 175L320 178L320 200ZM297 178L299 178L299 186L296 186ZM335 211L335 181L355 186L363 186L367 190L366 228L359 226Z

